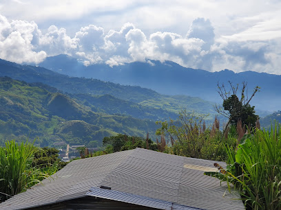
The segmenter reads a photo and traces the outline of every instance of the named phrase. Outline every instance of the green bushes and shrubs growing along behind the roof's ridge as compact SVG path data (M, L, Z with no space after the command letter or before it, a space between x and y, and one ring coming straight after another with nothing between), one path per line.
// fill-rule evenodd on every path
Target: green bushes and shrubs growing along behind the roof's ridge
M157 121L161 128L156 130L156 141L147 138L118 134L103 139L103 151L93 154L101 155L136 147L147 148L169 154L188 156L198 159L226 161L228 148L236 148L238 132L231 126L225 136L220 130L220 122L216 118L212 126L207 127L205 116L197 117L194 113L180 112L176 121Z

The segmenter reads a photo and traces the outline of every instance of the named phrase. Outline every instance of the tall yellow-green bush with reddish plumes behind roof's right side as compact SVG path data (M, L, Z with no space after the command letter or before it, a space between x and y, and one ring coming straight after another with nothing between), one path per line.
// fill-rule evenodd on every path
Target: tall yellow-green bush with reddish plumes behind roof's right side
M183 110L176 121L156 122L162 126L156 134L165 135L171 139L170 146L166 146L163 152L196 159L225 161L227 153L224 143L235 148L236 129L231 127L227 136L222 137L219 120L216 118L213 126L207 128L204 119L205 116L198 117L194 113Z

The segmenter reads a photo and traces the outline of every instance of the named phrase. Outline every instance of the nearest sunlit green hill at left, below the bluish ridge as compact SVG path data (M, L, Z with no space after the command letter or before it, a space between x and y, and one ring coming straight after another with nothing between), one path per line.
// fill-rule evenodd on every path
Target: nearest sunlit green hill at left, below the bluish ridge
M42 146L56 141L101 144L103 137L116 133L143 137L149 132L153 136L158 128L154 121L96 113L70 95L42 86L0 77L1 143L39 137Z

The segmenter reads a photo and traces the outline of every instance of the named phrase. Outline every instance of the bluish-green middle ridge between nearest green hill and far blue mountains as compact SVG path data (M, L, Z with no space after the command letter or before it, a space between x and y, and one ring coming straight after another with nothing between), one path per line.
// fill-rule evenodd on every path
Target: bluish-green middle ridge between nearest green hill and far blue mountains
M110 115L131 115L139 119L163 120L176 119L181 109L189 112L210 114L209 119L216 115L213 105L198 97L184 95L161 95L151 89L140 86L126 86L103 82L96 79L72 78L44 69L28 65L17 65L0 60L0 76L9 76L25 82L42 82L63 93L72 94L91 110ZM51 88L49 91L52 91ZM95 109L96 108L96 109Z

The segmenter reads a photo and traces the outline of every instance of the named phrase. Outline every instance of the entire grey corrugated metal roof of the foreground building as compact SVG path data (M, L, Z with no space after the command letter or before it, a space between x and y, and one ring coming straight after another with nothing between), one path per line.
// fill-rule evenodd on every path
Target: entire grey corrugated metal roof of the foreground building
M229 193L226 183L204 175L216 170L214 163L225 165L141 148L80 159L1 203L0 209L27 209L83 196L156 209L244 209L236 191Z

